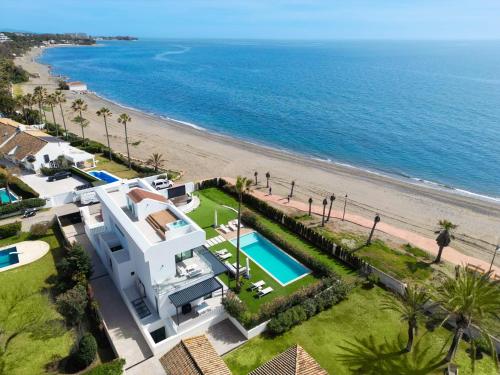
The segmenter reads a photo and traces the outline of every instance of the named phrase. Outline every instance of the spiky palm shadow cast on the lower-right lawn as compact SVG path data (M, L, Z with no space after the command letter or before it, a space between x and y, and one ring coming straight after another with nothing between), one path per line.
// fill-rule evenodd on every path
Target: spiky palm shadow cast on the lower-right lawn
M422 336L423 337L423 336ZM414 344L410 353L404 351L405 339L376 340L374 336L345 341L340 345L343 353L337 358L354 373L365 375L398 374L424 375L444 365L444 346L436 353L425 346L422 337Z

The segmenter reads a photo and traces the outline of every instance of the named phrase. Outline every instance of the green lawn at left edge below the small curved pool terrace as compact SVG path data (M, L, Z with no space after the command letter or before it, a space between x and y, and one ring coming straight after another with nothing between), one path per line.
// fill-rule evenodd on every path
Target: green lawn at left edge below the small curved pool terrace
M0 240L0 246L28 239L28 233L21 233ZM73 332L64 327L62 317L55 310L49 295L57 274L56 259L61 256L60 243L52 231L40 239L50 244L51 251L48 254L34 263L0 273L2 291L11 291L13 294L20 290L28 292L30 297L23 303L37 304L35 310L44 312L42 321L31 333L23 333L13 339L5 355L4 371L9 375L44 373L46 364L55 356L66 357L73 345ZM47 295L48 298L43 298ZM8 323L18 318L11 313Z

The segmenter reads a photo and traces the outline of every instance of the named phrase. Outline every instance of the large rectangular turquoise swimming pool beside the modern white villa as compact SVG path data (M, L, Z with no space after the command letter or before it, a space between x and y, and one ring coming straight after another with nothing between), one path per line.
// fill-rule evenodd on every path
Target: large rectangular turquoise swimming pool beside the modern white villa
M231 243L236 246L236 238ZM240 249L281 285L290 284L311 272L257 232L241 236Z

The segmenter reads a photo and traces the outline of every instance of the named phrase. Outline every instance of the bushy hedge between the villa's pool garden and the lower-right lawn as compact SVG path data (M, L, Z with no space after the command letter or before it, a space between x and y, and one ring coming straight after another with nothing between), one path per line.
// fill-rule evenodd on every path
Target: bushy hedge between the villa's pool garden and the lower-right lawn
M350 287L345 283L336 283L314 297L304 300L299 305L275 315L269 321L267 331L272 335L283 334L321 311L339 303L347 297L349 290Z

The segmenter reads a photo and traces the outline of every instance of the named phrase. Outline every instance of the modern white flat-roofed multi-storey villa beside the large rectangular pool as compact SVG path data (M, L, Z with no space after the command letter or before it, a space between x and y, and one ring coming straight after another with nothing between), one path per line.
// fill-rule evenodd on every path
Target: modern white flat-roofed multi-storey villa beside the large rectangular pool
M226 317L217 278L226 268L184 213L199 204L187 195L193 190L192 183L156 191L150 179L122 180L95 188L100 205L80 208L90 242L153 351Z

